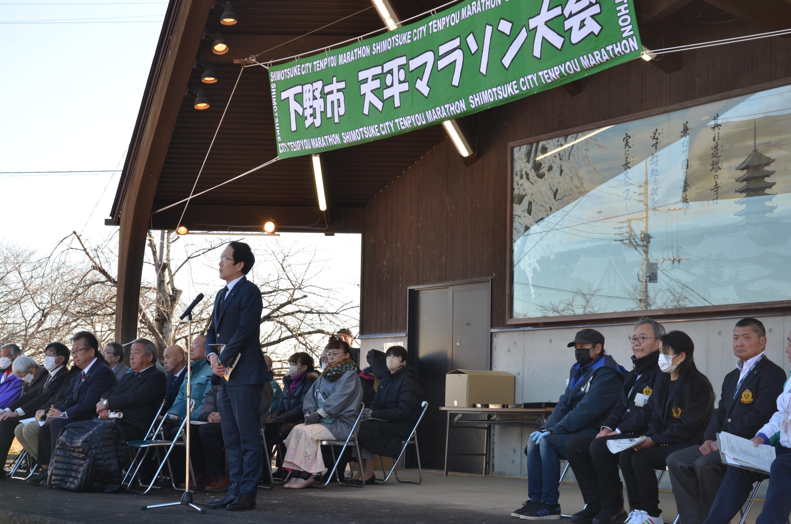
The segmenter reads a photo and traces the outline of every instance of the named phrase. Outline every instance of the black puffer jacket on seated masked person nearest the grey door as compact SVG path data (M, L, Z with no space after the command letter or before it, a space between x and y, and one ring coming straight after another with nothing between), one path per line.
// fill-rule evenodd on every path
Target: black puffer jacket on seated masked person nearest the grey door
M393 433L407 437L418 422L422 397L418 374L411 367L403 367L379 383L371 402L371 417L388 420Z

